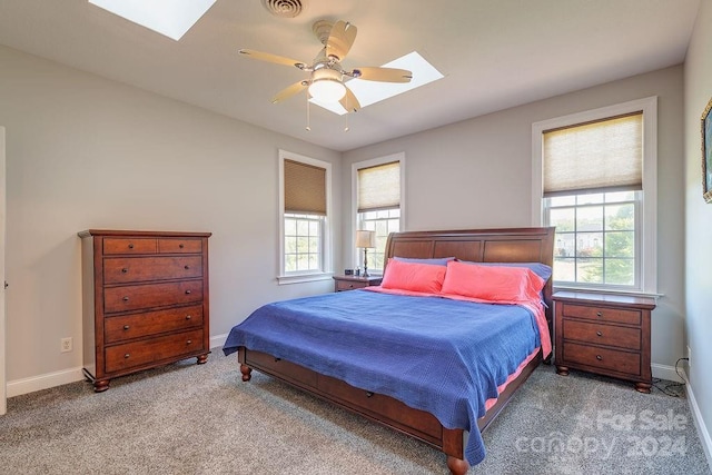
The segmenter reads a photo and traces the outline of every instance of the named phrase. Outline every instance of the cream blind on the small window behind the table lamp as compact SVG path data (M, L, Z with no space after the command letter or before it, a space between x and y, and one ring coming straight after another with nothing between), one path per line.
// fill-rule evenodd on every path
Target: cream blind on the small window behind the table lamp
M358 212L400 206L400 162L358 170Z

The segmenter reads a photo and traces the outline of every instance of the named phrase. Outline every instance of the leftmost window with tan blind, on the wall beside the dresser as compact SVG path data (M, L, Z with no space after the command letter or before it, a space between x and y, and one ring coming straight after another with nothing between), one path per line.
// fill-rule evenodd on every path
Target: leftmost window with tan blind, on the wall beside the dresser
M280 150L279 283L323 278L330 266L330 164Z

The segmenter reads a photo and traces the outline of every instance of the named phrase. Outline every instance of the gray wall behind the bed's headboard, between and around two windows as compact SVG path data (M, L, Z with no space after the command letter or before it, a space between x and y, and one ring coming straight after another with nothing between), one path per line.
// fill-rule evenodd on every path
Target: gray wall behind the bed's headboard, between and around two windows
M657 290L653 311L653 373L672 377L684 349L683 73L682 66L503 110L344 154L350 164L405 152L407 229L532 225L532 123L650 96L659 97ZM345 216L350 192L344 195ZM352 222L344 219L344 236ZM349 250L343 259L348 263Z

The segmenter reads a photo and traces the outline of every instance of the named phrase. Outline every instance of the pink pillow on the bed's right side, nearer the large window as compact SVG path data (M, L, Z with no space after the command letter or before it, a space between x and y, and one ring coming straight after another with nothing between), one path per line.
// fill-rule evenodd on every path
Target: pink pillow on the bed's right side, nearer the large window
M538 300L544 284L544 279L524 267L451 261L442 291L488 301L531 301Z

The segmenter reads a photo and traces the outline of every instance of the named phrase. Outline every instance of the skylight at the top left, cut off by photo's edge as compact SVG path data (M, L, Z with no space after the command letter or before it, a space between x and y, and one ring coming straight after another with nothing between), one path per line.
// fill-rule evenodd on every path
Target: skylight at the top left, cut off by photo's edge
M89 0L89 3L178 41L215 1Z

